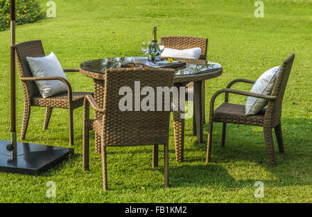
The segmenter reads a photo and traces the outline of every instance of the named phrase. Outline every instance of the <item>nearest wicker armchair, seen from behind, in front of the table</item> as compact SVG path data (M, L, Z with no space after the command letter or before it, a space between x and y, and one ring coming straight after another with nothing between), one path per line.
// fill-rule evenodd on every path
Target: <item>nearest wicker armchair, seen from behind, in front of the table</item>
M105 71L104 107L101 109L92 96L86 96L83 109L83 169L89 169L89 130L101 135L103 189L107 190L107 146L153 145L153 167L158 166L158 146L164 145L164 185L169 186L168 134L170 110L125 111L119 108L119 89L135 89L135 81L141 87L173 87L174 69L107 69ZM132 102L135 102L133 93ZM156 96L156 91L155 91ZM144 96L141 96L141 100ZM96 112L103 113L102 120L89 119L89 104ZM135 103L133 103L135 104ZM153 105L156 108L157 103ZM164 105L164 97L162 98Z

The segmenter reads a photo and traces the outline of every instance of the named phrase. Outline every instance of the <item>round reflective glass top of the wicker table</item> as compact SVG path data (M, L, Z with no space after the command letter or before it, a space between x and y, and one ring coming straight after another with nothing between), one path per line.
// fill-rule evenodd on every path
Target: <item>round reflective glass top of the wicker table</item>
M141 58L141 57L139 57ZM95 73L105 73L106 69L118 69L121 65L137 62L138 57L125 57L125 58L105 58L98 60L90 60L80 64L80 68L85 71L92 71ZM218 63L207 62L205 60L190 60L190 59L178 59L182 62L186 62L185 69L176 71L176 76L195 75L199 73L211 73L218 71L222 66ZM143 60L143 64L144 61Z

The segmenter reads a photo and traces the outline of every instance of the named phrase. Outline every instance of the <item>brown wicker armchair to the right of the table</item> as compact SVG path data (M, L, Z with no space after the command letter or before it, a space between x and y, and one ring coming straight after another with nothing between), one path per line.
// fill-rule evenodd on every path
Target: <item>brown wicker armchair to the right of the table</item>
M270 164L276 165L275 153L273 148L272 128L275 128L275 135L277 137L277 144L279 146L279 153L284 153L283 137L281 134L281 105L283 103L284 92L288 81L289 74L291 73L291 67L293 66L293 60L295 54L291 54L281 65L281 69L275 80L274 87L270 96L263 94L254 94L250 92L243 92L236 89L230 89L234 83L243 82L254 84L254 80L236 79L233 80L226 89L220 89L210 101L210 115L209 115L209 132L207 141L207 158L206 162L211 160L211 139L212 128L214 122L223 123L222 141L221 145L225 146L225 132L227 123L237 123L244 125L257 125L263 127L264 139L266 141L266 148L270 158ZM214 110L214 101L216 97L225 93L225 102ZM236 105L229 103L229 93L239 94L243 96L253 96L257 98L265 98L268 100L268 107L261 110L258 114L245 116L245 105Z

